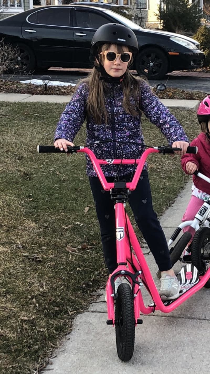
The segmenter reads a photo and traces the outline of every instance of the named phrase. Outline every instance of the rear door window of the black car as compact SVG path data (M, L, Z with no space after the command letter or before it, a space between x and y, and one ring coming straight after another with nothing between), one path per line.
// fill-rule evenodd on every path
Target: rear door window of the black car
M40 25L69 26L70 9L67 7L55 7L39 10L30 15L28 21Z

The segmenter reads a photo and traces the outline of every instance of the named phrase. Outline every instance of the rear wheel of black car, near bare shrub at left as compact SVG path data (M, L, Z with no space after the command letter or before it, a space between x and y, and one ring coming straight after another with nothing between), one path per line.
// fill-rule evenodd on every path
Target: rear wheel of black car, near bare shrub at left
M17 48L18 55L15 73L29 73L34 71L36 67L36 59L32 49L23 43L18 43L13 46Z

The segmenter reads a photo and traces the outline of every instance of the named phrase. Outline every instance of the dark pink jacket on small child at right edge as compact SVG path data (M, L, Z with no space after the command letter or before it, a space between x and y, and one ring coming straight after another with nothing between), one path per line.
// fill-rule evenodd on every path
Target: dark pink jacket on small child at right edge
M192 147L198 147L197 154L184 154L181 157L181 164L182 169L186 174L189 174L186 170L187 162L194 162L197 165L198 170L210 178L210 142L207 140L206 134L201 132L197 138L195 138L190 145ZM192 180L194 182L195 187L199 188L199 190L204 191L210 194L210 184L203 179L193 175Z

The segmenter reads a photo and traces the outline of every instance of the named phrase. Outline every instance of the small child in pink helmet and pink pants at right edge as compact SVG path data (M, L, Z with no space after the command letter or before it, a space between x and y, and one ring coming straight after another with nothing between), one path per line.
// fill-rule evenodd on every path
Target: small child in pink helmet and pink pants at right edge
M210 178L210 96L207 96L200 103L197 111L198 122L201 125L201 134L195 138L190 145L198 147L197 154L185 154L181 158L182 169L186 174L193 174L198 170ZM203 201L210 197L210 185L203 179L193 175L192 177L192 194L187 209L182 218L182 222L194 220L195 214L203 205ZM192 234L191 240L195 234L195 230L190 227L184 227L183 231L189 231ZM186 247L186 248L187 248Z

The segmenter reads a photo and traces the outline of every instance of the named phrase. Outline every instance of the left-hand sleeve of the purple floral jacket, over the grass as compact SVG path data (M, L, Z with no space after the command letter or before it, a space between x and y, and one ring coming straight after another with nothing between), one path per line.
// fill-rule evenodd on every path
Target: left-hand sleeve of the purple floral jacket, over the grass
M81 83L66 105L55 131L54 139L73 141L86 117L87 85Z

